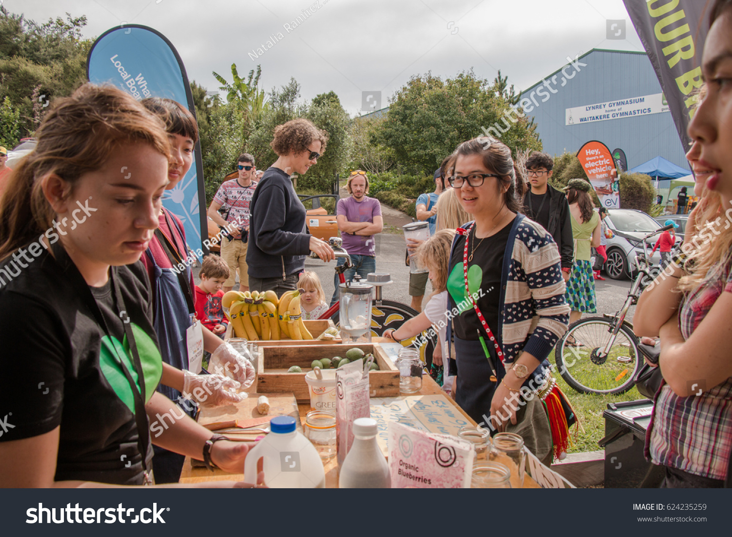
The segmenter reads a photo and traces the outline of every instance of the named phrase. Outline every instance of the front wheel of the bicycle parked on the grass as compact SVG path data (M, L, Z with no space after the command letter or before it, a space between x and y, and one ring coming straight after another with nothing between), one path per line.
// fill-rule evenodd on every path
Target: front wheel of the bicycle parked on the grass
M569 326L556 344L554 358L559 375L582 394L622 394L635 383L643 359L638 339L627 326L620 327L610 353L602 356L602 349L613 335L611 326L608 318L581 319Z

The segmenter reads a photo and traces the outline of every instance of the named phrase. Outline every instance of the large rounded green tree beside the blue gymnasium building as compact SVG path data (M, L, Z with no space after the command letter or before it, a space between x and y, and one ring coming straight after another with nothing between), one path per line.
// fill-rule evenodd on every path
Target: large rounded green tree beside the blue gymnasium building
M536 126L519 116L504 93L501 83L476 78L472 70L444 81L429 72L414 76L390 99L371 143L392 149L412 173L433 172L458 144L485 132L499 135L513 151L541 149Z

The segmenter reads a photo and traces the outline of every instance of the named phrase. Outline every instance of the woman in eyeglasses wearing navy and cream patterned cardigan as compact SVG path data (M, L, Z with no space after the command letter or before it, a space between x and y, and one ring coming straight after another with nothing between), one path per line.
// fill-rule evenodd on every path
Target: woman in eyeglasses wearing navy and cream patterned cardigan
M567 329L561 259L551 235L520 214L524 181L510 149L475 138L455 151L449 178L460 205L474 217L458 229L447 290L455 329L455 400L468 416L496 431L509 428L550 462L568 437L552 438L540 399L562 410L547 356ZM538 395L538 397L537 397ZM556 403L556 405L554 404ZM564 416L550 413L550 421Z

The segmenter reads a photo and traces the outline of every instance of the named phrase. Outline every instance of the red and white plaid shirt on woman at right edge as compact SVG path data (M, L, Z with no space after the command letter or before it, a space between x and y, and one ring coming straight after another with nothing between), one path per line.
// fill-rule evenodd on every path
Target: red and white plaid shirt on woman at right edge
M682 299L679 328L684 339L689 339L722 292L732 293L731 264L719 263L709 271L704 285ZM732 377L690 397L679 397L664 383L656 394L646 439L646 455L655 464L724 479L732 450Z

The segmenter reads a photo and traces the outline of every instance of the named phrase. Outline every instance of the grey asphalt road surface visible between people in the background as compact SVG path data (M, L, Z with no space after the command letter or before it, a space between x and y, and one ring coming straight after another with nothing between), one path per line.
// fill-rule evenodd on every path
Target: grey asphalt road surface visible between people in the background
M376 236L376 271L386 272L392 277L392 284L382 288L384 298L403 304L411 304L409 296L409 267L404 264L406 246L402 233L379 233ZM326 301L330 300L334 290L335 261L323 263L319 259L308 258L305 261L305 270L315 271L321 279L323 290L326 293ZM198 271L195 269L195 280L198 283ZM616 281L605 275L605 281L595 282L597 293L597 315L602 313L614 314L622 306L630 289L630 280ZM427 296L431 293L431 286L427 285ZM633 310L631 308L627 320L632 321ZM595 314L586 314L590 317Z

